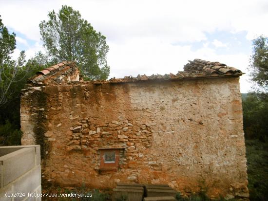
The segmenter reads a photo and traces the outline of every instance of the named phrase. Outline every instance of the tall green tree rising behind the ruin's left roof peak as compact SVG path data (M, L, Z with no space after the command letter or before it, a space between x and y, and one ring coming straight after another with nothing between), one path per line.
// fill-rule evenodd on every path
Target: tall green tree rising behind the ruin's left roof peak
M67 5L57 14L54 10L49 12L48 18L41 21L39 28L49 56L58 62L77 62L86 79L107 79L110 67L106 61L109 51L106 37L81 18L79 11Z

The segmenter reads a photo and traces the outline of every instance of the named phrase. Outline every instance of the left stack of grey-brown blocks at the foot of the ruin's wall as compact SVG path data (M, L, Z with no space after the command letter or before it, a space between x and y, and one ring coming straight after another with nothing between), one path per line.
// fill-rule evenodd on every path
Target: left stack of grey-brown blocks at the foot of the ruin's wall
M120 198L126 198L127 201L142 201L143 190L136 189L114 189L112 201L116 201Z

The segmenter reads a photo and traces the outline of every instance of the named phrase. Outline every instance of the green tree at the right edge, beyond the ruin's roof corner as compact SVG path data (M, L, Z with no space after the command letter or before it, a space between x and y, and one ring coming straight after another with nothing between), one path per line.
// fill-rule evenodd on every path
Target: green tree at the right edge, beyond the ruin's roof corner
M268 38L264 36L253 40L253 54L250 59L251 80L257 84L256 92L268 97Z

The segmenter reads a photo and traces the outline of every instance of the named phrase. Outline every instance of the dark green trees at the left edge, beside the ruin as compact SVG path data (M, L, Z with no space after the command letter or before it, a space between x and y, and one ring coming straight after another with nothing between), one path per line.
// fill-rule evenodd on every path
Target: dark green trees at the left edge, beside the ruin
M15 36L0 19L0 146L20 144L20 90L29 77L51 65L40 52L26 62L25 52L21 51L19 58L12 60Z

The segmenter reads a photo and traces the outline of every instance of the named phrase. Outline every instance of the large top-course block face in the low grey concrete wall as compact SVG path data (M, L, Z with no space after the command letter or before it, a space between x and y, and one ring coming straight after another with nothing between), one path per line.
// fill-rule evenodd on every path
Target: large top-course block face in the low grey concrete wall
M14 181L35 166L36 151L34 147L21 148L0 157L3 166L1 186Z

